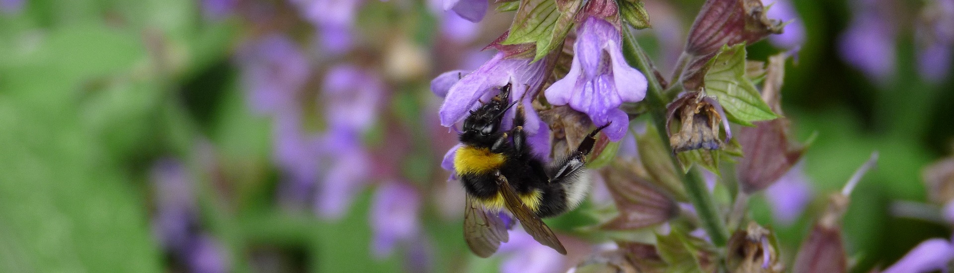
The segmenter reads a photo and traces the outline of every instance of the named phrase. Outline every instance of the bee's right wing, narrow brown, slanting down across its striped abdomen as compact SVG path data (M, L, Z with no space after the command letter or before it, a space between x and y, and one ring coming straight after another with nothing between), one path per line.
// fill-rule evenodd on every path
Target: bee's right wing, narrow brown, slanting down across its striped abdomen
M560 243L560 240L556 239L556 235L550 230L550 226L547 226L547 223L540 220L540 217L538 217L536 213L533 213L533 211L524 204L524 201L517 197L517 193L513 192L513 188L510 187L507 178L497 176L497 182L500 183L500 191L503 193L504 204L507 206L507 209L520 221L520 225L524 226L524 230L527 230L527 233L533 236L533 240L550 246L550 248L553 248L553 250L556 250L556 252L560 254L567 255L567 248L563 247L563 243Z

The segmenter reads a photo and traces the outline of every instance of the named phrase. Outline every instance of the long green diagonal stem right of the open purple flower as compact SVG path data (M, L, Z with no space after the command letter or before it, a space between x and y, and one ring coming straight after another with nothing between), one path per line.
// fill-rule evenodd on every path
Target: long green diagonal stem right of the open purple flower
M656 128L658 128L656 132L659 133L659 137L662 139L664 146L672 147L669 142L669 134L667 134L668 132L666 132L665 129L666 99L662 96L662 85L659 84L659 81L653 76L653 66L650 63L649 56L639 47L630 31L623 31L623 38L625 39L623 54L626 56L627 61L642 73L647 74L646 79L649 81L649 90L646 92L646 101L649 104L650 115L653 116L653 123L655 123ZM679 158L676 158L674 153L670 154L673 155L670 158L672 158L673 164L676 170L678 170L679 166L681 166ZM678 174L679 172L676 173ZM709 190L706 189L705 182L692 170L686 172L684 175L680 175L689 200L693 203L695 211L702 221L702 227L706 230L706 233L709 234L709 238L712 239L712 242L716 244L716 246L724 246L729 232L726 231L725 222L723 222L722 218L718 215L716 203L713 201L712 195L709 194Z

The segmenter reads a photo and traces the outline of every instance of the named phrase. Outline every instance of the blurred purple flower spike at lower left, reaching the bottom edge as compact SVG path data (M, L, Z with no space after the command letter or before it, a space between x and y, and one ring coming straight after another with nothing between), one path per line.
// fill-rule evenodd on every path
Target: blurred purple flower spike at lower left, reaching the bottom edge
M156 187L154 231L159 242L192 272L228 272L225 250L198 230L193 179L180 162L163 158L153 166Z

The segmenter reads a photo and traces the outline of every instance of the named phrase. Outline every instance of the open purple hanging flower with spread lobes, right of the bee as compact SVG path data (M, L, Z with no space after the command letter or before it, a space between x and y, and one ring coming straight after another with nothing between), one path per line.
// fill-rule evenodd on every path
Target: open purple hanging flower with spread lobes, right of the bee
M646 77L626 63L620 45L619 31L610 22L587 18L573 44L570 73L545 92L551 104L570 104L590 115L593 125L612 122L603 130L612 141L623 138L630 124L619 106L642 100L647 87Z

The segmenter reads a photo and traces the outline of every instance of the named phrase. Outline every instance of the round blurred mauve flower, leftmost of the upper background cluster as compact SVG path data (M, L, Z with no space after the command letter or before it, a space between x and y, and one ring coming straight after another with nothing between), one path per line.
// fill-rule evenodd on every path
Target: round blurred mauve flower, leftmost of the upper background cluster
M310 73L307 57L283 34L242 46L239 66L248 104L260 114L275 114L294 104Z

